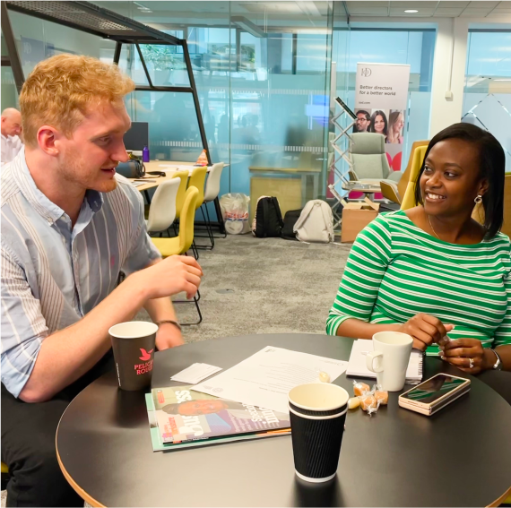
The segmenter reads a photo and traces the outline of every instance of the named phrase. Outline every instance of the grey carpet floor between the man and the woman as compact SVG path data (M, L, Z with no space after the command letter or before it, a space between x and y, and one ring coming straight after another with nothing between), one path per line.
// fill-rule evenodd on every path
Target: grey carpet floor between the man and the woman
M350 248L252 235L219 238L212 251L200 251L204 280L199 305L204 321L185 327L185 340L324 333ZM182 323L196 320L193 304L176 304L176 308ZM149 319L144 311L137 318ZM4 503L5 493L0 492L0 508Z

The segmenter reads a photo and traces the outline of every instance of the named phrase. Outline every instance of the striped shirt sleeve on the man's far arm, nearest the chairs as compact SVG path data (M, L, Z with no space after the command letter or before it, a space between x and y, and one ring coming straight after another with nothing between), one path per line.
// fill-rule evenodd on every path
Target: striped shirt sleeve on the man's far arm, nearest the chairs
M149 263L161 259L160 251L154 246L151 237L147 234L147 227L143 217L143 197L135 189L130 189L130 200L134 206L135 227L131 239L131 248L122 270L129 275L134 271L143 270Z

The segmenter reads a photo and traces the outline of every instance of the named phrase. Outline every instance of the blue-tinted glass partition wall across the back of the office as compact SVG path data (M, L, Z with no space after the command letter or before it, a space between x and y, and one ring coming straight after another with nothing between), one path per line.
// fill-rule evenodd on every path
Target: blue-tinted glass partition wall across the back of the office
M329 118L340 96L353 106L359 61L409 63L406 164L411 142L429 131L435 30L376 30L347 22L341 0L96 0L95 4L186 39L213 161L229 166L221 194L276 195L283 212L327 193ZM51 22L10 13L25 73L58 52L111 62L115 44ZM188 85L181 47L141 46L155 85ZM1 47L0 47L1 50ZM119 65L148 84L135 47ZM0 68L0 104L17 97ZM202 150L191 94L136 91L134 121L150 129L153 159L195 161Z

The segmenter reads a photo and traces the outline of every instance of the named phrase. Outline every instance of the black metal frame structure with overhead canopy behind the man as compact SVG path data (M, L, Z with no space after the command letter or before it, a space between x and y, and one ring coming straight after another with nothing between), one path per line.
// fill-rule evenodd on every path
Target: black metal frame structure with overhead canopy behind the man
M201 141L206 150L208 164L212 164L211 155L208 147L208 140L204 130L203 116L195 85L195 77L192 69L192 63L188 52L188 46L185 39L178 39L160 30L135 22L120 14L108 11L91 4L85 0L0 0L0 27L5 39L8 55L0 56L0 66L11 66L13 69L14 82L18 93L22 90L25 81L22 69L20 55L16 47L16 41L13 35L13 29L9 20L8 9L17 13L37 17L48 22L54 22L74 30L80 30L91 35L96 35L103 39L116 41L114 51L114 63L118 64L121 56L123 44L133 44L136 47L143 65L143 72L147 78L149 86L138 85L135 91L169 91L191 93L194 99L195 114L197 124L201 134ZM185 58L186 73L190 86L155 86L152 83L151 76L140 47L141 44L170 45L183 48ZM221 220L220 203L215 200L215 210L217 212L218 226L221 232L224 232L223 221Z

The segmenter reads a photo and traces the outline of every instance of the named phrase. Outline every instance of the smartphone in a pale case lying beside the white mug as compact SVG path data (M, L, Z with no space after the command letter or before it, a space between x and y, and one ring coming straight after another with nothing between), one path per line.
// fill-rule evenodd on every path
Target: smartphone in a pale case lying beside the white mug
M431 416L453 400L470 391L470 379L456 375L437 374L399 396L404 409Z

